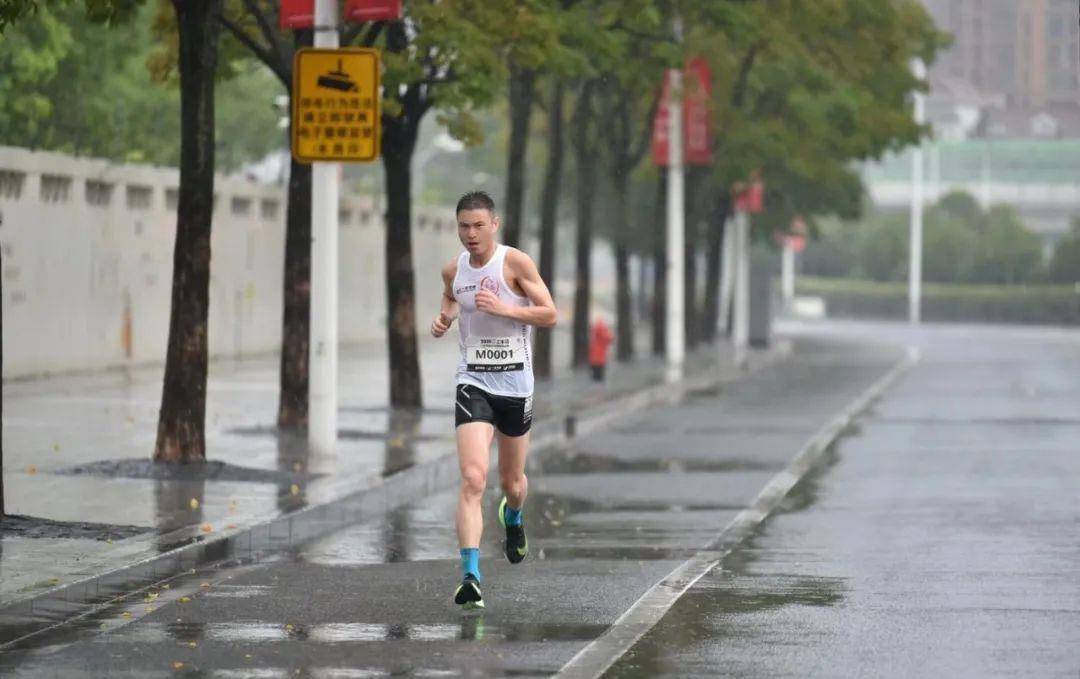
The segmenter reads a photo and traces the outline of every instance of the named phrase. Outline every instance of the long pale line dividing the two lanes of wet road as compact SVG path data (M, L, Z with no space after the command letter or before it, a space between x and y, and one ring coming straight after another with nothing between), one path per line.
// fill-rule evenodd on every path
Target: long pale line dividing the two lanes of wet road
M713 570L745 540L778 506L791 489L814 467L825 450L855 417L879 397L893 381L919 361L917 348L888 374L859 395L839 415L825 423L804 444L798 454L758 493L754 503L740 512L704 549L684 561L619 616L603 635L581 649L555 675L563 679L595 679L626 653L675 605L675 601Z

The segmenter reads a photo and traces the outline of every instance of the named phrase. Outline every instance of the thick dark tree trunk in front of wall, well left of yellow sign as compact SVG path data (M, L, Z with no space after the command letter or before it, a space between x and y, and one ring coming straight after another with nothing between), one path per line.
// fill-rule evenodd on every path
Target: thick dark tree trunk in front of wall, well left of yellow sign
M214 213L214 76L220 0L174 0L179 28L180 188L168 350L156 462L206 458L210 236Z

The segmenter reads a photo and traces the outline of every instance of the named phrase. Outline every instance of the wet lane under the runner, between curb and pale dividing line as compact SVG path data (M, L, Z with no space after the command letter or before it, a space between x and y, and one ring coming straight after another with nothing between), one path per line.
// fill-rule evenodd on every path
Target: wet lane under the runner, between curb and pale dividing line
M0 671L551 675L710 543L821 423L897 355L859 342L799 342L787 365L738 389L696 394L535 458L526 505L535 556L522 565L499 557L492 520L499 498L488 494L481 565L488 608L481 615L450 603L459 576L451 490L292 545L266 562L200 571L184 585L191 594L159 593L167 601L130 619L123 613L131 611L118 607L43 635L0 657ZM404 418L396 426L407 434L416 421ZM413 440L387 437L388 465L410 464ZM281 464L293 462L286 449L279 454ZM800 582L813 588L810 580Z

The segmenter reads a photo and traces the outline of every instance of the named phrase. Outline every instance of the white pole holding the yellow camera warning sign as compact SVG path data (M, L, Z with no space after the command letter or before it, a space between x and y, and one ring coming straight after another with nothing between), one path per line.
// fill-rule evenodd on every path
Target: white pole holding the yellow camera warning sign
M315 46L338 46L336 0L315 0ZM294 121L294 124L296 122ZM337 444L338 182L340 163L316 162L311 176L311 343L308 444Z

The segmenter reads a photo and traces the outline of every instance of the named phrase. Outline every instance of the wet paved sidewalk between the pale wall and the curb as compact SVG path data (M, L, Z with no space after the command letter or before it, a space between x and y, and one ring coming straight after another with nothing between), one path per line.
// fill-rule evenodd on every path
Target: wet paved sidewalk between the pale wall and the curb
M540 445L543 435L562 435L567 416L643 407L647 402L642 394L662 389L663 366L650 358L613 364L608 382L593 384L586 375L565 368L568 340L566 332L556 336L557 374L538 384ZM755 361L777 354L765 352ZM691 354L687 375L706 381L719 378L718 357L716 348ZM456 468L446 462L453 462L457 343L422 340L421 362L423 411L391 412L386 405L384 350L372 344L342 351L340 442L334 456L308 454L305 442L273 432L276 357L212 364L208 478L146 474L160 368L4 384L8 513L91 525L66 526L67 532L60 533L65 537L5 534L0 542L0 609L195 542L272 525L391 480L417 477L413 486L394 491L401 493L444 484L441 477L434 479L432 470L440 462ZM627 398L636 400L624 403Z

